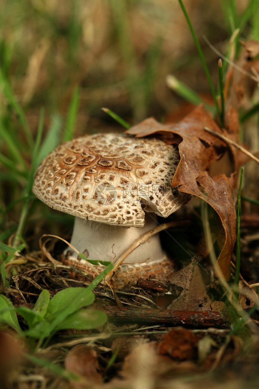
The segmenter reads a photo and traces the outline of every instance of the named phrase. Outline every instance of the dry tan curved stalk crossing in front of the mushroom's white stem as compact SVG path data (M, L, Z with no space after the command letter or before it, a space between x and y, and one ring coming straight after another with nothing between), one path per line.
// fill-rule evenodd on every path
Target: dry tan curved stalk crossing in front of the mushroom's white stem
M105 277L105 281L106 282L109 282L111 277L113 276L113 274L118 270L118 268L120 267L120 265L122 265L122 263L125 261L125 259L127 258L127 256L129 256L129 254L132 253L132 251L134 251L137 247L139 247L139 245L141 245L142 243L146 242L146 240L148 240L148 238L151 238L153 237L153 235L156 235L158 232L160 231L163 231L163 230L167 230L167 228L170 228L170 227L176 227L176 226L181 226L181 225L185 225L186 222L170 222L170 223L163 223L163 224L160 224L160 226L156 227L156 228L153 228L153 230L147 232L146 234L142 235L142 237L140 237L138 240L136 240L135 243L133 243L121 256L120 258L118 258L118 260L116 261L115 265L114 265L114 268L113 270L108 273L108 275Z

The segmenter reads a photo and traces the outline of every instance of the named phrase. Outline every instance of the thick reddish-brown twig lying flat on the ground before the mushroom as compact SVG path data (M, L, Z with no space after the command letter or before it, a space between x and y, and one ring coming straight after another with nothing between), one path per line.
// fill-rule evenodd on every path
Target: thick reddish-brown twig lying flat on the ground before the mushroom
M168 311L158 309L127 308L127 307L98 307L105 312L110 321L141 323L141 324L161 324L161 325L184 325L191 327L217 327L229 328L228 317L221 312L202 311Z

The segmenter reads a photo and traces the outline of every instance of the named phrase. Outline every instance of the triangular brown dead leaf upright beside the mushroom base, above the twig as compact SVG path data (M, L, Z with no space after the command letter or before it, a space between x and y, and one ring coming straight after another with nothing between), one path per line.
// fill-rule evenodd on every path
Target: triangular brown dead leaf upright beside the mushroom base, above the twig
M200 265L196 259L178 272L168 276L170 282L183 288L180 296L169 305L168 310L211 311L210 298L206 291Z

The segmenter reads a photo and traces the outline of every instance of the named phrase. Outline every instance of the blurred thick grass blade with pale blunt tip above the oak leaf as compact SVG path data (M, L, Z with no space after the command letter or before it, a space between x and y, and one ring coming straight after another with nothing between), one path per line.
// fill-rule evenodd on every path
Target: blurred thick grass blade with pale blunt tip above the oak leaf
M179 96L183 97L185 100L189 101L192 104L199 105L200 103L204 104L204 107L215 114L215 108L212 105L204 102L202 98L186 84L179 81L174 75L169 74L166 78L167 86L172 89L174 92L178 93Z

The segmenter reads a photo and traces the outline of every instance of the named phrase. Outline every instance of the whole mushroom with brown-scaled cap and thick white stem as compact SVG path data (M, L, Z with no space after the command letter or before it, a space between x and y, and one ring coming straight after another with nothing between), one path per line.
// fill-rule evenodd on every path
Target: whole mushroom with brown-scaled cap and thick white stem
M73 247L88 259L116 262L157 226L156 215L167 217L188 202L189 195L171 187L179 158L178 149L158 138L87 135L63 143L42 160L33 192L49 207L75 216ZM68 259L87 266L75 251ZM127 257L120 284L172 270L155 235Z

